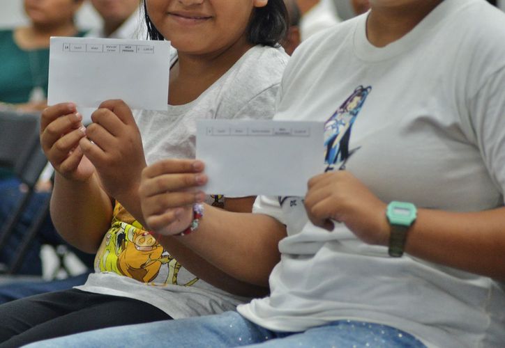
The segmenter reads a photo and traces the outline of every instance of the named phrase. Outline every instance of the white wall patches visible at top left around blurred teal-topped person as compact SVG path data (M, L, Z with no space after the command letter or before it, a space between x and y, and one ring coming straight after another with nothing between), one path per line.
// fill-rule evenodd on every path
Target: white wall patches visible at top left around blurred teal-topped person
M77 14L77 25L81 29L100 26L100 17L89 3L84 3ZM23 0L0 0L0 28L12 28L27 23Z

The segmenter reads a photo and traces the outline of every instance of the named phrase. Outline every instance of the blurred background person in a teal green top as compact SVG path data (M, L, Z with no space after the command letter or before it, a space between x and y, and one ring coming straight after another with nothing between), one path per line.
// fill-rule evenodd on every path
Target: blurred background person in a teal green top
M84 35L74 16L83 0L24 0L28 26L0 31L3 109L41 111L46 105L51 36Z

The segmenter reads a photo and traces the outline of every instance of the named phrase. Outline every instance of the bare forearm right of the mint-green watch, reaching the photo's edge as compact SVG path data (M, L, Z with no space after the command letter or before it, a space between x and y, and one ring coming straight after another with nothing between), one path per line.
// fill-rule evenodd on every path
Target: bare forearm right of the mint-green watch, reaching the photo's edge
M505 280L505 207L484 212L419 209L405 251L430 262Z

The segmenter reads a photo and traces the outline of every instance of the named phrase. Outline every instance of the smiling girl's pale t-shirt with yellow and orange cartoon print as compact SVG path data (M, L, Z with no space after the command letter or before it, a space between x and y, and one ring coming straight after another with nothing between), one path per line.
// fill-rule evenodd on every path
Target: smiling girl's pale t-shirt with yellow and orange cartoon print
M280 48L257 45L193 102L169 105L167 112L137 113L147 164L167 158L194 158L198 119L272 118L287 58ZM121 219L121 214L115 216L97 253L96 273L77 289L138 299L173 318L234 310L249 300L197 278L163 246L148 245L147 237L143 244L137 242L144 237L140 224L131 222L133 218ZM136 246L141 248L137 250Z

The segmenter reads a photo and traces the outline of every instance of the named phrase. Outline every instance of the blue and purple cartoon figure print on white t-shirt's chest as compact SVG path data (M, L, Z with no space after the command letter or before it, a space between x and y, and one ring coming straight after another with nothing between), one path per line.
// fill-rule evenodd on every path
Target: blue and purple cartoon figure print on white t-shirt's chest
M324 124L326 171L333 171L337 164L339 164L339 169L345 168L345 161L357 150L349 150L352 125L354 125L366 97L370 94L370 90L372 90L371 86L356 88Z

